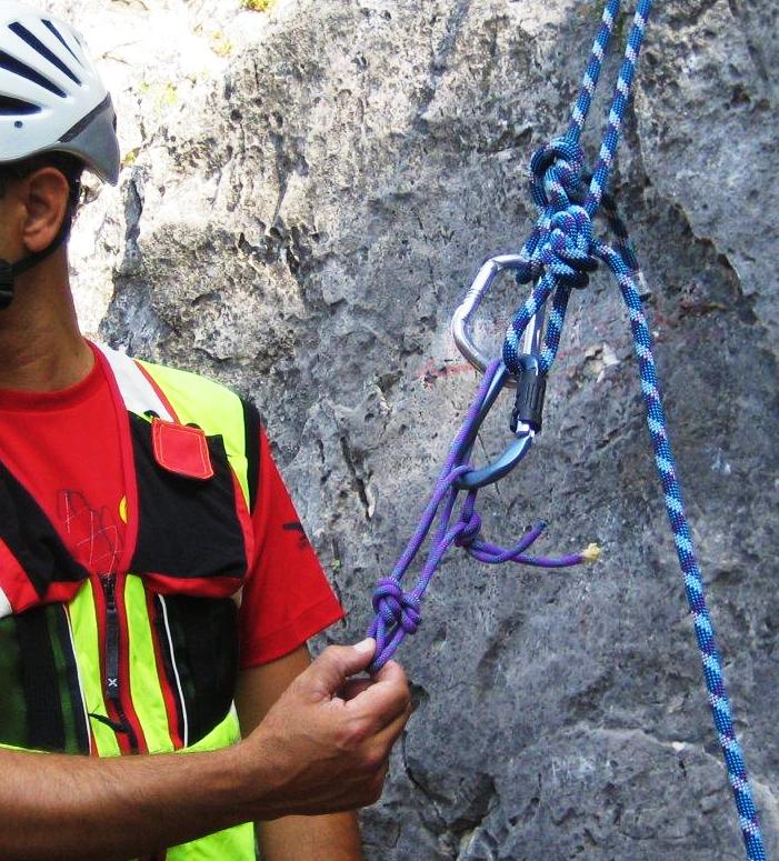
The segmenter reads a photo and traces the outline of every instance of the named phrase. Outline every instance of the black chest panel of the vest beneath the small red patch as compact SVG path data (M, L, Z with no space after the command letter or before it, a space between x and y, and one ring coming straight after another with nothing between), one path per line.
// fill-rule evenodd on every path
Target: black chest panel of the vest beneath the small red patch
M151 424L133 413L129 418L140 511L130 570L188 580L243 578L246 542L222 438L207 438L213 478L183 478L157 463Z

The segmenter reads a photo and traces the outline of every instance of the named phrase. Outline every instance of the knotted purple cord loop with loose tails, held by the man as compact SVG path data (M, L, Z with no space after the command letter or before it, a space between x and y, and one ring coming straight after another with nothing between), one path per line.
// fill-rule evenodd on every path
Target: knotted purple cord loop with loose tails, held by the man
M493 544L481 538L481 517L476 511L478 490L461 491L455 484L460 475L470 472L473 467L468 462L470 447L466 444L469 432L478 421L485 398L492 379L500 369L500 361L493 361L486 370L483 380L473 402L468 409L466 419L449 450L446 463L438 477L436 488L425 508L422 517L409 539L402 555L392 573L379 580L373 592L373 610L376 615L368 629L368 635L376 639L376 654L370 665L370 672L377 673L395 654L406 634L415 633L421 623L421 602L432 575L450 547L461 547L473 559L480 562L497 564L499 562L519 562L536 568L567 568L580 562L593 561L595 550L565 557L535 557L526 551L541 535L547 524L537 523L510 548ZM462 505L455 514L460 493L465 493ZM437 521L437 522L436 522ZM430 531L433 529L428 558L422 565L416 585L405 591L402 579L419 554Z

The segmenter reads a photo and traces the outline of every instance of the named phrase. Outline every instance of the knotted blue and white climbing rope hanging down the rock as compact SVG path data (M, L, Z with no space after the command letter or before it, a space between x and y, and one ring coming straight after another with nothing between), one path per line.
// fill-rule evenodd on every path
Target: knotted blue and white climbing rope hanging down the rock
M519 283L527 283L538 278L539 281L509 326L503 346L503 361L509 371L521 371L519 358L522 334L529 321L551 296L552 311L540 357L543 371L549 371L560 344L571 289L587 283L588 272L595 269L598 260L609 267L619 283L630 317L649 434L677 555L685 577L685 591L701 653L711 713L739 813L747 858L749 861L766 861L757 809L743 754L736 737L722 661L717 651L715 632L706 605L703 580L696 559L692 533L685 513L681 487L668 438L652 356L651 332L638 289L641 280L640 269L627 230L617 218L613 204L603 200L636 77L636 64L651 11L651 0L640 0L638 3L598 162L589 182L586 181L583 156L579 146L619 6L618 0L607 2L583 83L571 110L568 132L563 138L536 152L531 160L532 196L539 208L539 219L521 252L527 259L527 269L519 271L517 280ZM596 240L592 236L592 219L601 202L607 204L605 214L615 239L613 246Z

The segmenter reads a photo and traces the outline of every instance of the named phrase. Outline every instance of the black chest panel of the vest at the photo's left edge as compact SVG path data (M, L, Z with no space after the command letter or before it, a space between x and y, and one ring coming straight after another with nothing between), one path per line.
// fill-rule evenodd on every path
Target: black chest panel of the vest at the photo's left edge
M49 583L79 582L89 572L68 552L31 493L0 463L0 538L43 598Z

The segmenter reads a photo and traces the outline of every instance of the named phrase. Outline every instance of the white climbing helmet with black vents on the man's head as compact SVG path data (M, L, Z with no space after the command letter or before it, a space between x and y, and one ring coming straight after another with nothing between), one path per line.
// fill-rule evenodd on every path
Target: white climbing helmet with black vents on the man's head
M68 152L116 186L116 124L81 34L28 3L0 0L0 166Z

